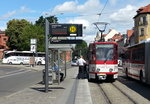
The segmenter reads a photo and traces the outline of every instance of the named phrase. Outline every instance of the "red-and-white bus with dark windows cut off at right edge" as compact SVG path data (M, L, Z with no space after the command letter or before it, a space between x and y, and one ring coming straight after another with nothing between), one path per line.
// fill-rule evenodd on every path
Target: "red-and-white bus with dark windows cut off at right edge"
M123 69L127 77L150 84L150 41L127 47Z

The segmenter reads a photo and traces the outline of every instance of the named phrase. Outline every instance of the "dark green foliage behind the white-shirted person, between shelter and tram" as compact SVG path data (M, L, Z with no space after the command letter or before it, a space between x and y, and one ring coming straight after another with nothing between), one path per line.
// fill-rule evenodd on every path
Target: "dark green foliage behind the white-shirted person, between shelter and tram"
M83 40L81 43L76 44L73 51L73 57L82 55L85 59L87 59L87 49L87 43Z

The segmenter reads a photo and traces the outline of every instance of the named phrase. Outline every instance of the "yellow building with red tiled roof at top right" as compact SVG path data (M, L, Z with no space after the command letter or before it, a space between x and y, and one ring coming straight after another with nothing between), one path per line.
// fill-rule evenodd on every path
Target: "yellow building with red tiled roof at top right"
M150 4L137 10L134 17L135 43L150 40Z

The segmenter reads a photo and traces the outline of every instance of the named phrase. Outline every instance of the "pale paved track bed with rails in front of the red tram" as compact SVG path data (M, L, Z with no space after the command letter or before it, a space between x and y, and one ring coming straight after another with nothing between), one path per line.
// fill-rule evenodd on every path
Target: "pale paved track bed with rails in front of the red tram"
M150 101L119 81L89 82L93 104L150 104Z

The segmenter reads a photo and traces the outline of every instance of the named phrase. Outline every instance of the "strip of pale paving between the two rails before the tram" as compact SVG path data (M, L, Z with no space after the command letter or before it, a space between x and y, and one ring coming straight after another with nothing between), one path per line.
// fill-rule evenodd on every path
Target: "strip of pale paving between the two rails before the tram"
M113 83L97 84L107 104L137 104Z

